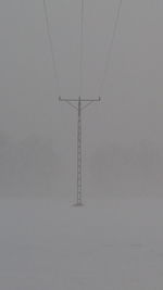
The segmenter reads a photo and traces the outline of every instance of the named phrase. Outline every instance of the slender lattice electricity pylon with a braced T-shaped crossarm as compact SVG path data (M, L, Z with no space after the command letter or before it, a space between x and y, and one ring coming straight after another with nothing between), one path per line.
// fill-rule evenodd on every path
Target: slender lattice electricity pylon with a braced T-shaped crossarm
M98 99L63 99L59 97L59 101L64 101L70 104L73 109L77 111L77 197L76 197L76 206L83 205L82 201L82 111L85 110L88 105L93 102L100 101L101 98ZM84 105L83 105L84 103Z

